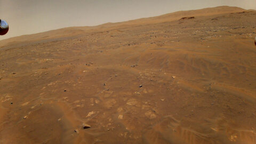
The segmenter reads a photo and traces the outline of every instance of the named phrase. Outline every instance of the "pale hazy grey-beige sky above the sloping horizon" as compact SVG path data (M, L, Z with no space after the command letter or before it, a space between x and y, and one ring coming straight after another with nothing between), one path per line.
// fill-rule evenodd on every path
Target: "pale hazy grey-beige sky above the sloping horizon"
M0 40L222 5L256 10L256 0L0 0L0 19L10 26Z

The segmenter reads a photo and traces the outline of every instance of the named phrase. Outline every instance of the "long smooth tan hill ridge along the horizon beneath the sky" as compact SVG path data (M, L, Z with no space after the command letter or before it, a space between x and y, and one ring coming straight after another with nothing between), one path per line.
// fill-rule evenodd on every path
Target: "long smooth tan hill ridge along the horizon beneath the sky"
M217 14L243 12L243 11L249 11L249 10L244 10L239 7L218 6L218 7L211 7L211 8L205 8L200 10L178 11L178 12L168 13L164 15L159 15L157 17L141 18L136 20L124 21L124 22L116 22L116 23L109 22L99 26L92 26L92 27L61 28L57 30L45 31L43 33L22 35L18 37L4 39L0 41L0 47L7 46L7 45L10 46L13 44L19 44L24 42L27 43L27 42L35 42L35 41L54 39L54 38L72 37L72 36L83 34L85 30L98 31L98 30L111 29L113 27L124 28L124 27L136 26L136 25L148 25L150 23L174 21L174 20L179 20L180 18L183 18L183 17L203 17L203 16L210 16L210 15L217 15Z

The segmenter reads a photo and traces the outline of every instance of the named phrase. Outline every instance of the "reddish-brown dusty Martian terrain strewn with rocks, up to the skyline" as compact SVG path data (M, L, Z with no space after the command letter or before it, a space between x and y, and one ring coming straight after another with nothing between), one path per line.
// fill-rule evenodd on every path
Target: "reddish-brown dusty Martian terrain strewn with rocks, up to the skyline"
M255 33L216 7L0 41L0 143L256 143Z

